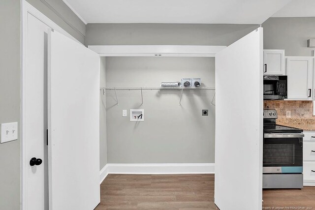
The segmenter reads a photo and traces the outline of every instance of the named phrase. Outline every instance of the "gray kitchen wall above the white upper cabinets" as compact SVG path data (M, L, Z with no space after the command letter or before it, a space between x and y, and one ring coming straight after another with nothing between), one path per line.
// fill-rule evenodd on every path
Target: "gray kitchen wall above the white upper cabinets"
M264 49L284 49L286 56L313 56L307 40L315 38L315 17L269 18L264 28Z

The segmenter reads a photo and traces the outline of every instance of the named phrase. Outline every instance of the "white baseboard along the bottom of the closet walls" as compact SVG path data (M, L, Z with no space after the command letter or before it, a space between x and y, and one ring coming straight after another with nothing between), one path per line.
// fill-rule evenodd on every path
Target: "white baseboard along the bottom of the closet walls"
M214 174L214 163L106 164L100 183L108 174Z

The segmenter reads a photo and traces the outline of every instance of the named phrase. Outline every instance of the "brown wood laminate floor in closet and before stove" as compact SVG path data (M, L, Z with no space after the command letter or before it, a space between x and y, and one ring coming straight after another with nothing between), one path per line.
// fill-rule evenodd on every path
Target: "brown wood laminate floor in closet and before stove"
M214 204L213 174L110 174L100 190L101 201L95 210L218 210ZM315 210L315 187L263 190L263 200L263 210L272 207Z

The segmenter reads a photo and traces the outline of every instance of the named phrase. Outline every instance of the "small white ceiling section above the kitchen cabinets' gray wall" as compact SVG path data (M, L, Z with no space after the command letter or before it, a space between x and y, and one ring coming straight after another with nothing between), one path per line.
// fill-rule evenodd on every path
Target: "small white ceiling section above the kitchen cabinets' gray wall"
M272 17L315 17L315 0L292 0Z

